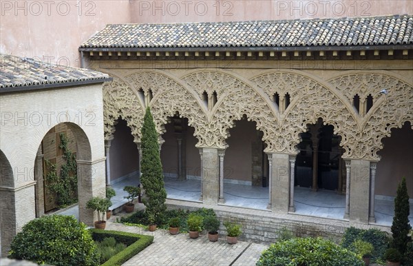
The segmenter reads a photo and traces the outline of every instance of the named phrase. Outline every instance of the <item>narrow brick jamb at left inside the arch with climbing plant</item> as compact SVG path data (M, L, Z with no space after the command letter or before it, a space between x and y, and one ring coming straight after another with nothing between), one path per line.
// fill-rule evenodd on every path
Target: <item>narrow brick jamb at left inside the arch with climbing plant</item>
M44 155L41 153L41 146L39 146L39 150L37 150L36 154L36 161L34 163L34 181L36 181L34 190L36 192L36 217L38 218L45 214L43 156Z

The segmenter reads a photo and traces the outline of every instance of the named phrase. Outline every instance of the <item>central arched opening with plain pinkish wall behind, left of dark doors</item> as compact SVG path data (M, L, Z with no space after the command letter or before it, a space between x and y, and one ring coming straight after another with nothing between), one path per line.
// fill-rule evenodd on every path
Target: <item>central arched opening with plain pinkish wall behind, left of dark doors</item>
M266 209L268 206L268 158L263 133L246 116L235 121L226 139L223 196L225 205Z

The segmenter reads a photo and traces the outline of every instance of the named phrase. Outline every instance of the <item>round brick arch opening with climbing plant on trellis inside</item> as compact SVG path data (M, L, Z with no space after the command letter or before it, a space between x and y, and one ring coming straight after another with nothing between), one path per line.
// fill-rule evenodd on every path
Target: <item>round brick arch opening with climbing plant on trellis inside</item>
M43 137L34 162L36 217L78 203L76 150L74 134L65 123ZM78 208L70 214L78 218Z

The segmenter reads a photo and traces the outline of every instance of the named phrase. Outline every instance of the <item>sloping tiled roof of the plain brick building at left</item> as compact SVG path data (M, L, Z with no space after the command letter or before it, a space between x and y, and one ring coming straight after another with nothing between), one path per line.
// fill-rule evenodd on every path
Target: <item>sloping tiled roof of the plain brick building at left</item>
M0 54L0 92L110 81L107 74Z

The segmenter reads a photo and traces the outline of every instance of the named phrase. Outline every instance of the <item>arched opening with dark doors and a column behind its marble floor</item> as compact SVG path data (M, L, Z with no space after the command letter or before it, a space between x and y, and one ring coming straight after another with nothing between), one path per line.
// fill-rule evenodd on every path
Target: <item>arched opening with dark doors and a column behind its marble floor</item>
M346 198L341 137L332 125L308 125L301 133L295 161L295 212L326 218L343 218Z

